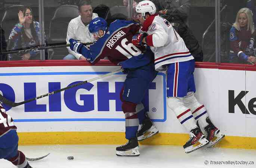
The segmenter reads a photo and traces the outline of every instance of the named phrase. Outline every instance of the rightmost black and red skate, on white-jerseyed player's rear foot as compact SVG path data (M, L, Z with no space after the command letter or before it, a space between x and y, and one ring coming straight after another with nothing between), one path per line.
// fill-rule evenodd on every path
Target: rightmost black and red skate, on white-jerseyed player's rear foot
M208 147L213 147L220 140L222 140L225 135L222 134L220 130L212 124L209 117L206 118L206 122L209 124L204 128L206 131L206 139L209 141Z

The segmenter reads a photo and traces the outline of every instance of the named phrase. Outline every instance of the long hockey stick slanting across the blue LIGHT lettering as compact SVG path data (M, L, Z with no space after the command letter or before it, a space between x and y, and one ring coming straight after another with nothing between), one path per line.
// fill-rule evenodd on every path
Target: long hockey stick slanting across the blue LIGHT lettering
M90 80L83 81L83 82L80 82L80 83L77 83L77 84L73 84L73 85L70 85L70 86L68 86L68 87L64 87L64 88L62 88L62 89L55 90L55 91L52 91L52 92L50 92L50 93L46 93L46 94L43 94L43 95L41 95L41 96L37 96L37 97L35 97L35 98L28 99L28 100L25 100L25 101L19 102L19 103L12 102L12 101L6 99L5 97L3 97L3 96L0 94L0 101L1 101L2 103L4 103L4 104L8 105L8 106L16 107L16 106L23 105L23 104L28 103L28 102L32 102L32 101L37 100L37 99L41 99L41 98L46 97L46 96L50 96L50 95L55 94L55 93L59 93L59 92L61 92L61 91L63 91L63 90L67 90L67 89L70 89L70 88L73 88L73 87L77 87L77 86L82 85L82 84L86 84L86 83L90 83L90 82L92 82L92 81L96 81L96 80L101 79L101 78L104 78L104 77L108 77L108 76L110 76L110 75L113 75L113 74L116 74L116 73L122 72L122 71L123 71L123 69L118 69L118 70L113 71L113 72L110 72L110 73L108 73L108 74L105 74L105 75L102 75L102 76L99 76L99 77L96 77L96 78L92 78L92 79L90 79Z

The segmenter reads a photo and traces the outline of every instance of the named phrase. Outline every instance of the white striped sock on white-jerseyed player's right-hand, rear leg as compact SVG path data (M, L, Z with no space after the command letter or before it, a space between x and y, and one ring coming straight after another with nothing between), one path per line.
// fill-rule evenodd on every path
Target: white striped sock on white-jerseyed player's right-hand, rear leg
M201 130L203 131L204 127L208 125L206 118L209 116L205 106L197 101L193 92L189 92L187 96L183 97L183 103L187 108L191 109L195 120L199 121Z

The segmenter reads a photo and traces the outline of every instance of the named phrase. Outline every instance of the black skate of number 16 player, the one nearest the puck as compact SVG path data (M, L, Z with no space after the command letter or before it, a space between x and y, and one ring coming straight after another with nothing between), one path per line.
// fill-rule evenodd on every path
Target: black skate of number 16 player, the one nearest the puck
M117 156L139 156L139 144L137 138L131 138L126 144L116 148Z

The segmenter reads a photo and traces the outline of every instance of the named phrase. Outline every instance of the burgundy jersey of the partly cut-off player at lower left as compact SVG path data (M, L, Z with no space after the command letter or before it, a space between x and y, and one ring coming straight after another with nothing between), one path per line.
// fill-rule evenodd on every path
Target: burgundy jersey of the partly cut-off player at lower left
M4 136L11 130L17 130L13 119L6 113L0 111L0 137Z

